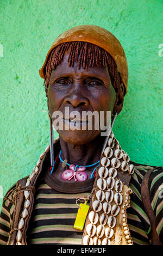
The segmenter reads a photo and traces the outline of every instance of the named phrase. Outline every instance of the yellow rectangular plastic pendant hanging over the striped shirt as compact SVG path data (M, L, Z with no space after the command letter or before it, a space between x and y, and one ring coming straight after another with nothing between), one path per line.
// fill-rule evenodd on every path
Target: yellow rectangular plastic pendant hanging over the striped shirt
M86 204L87 201L85 201L84 204L80 204L80 208L78 209L78 213L77 213L77 217L76 217L76 221L74 223L74 228L79 229L79 230L83 230L84 227L84 223L86 220L86 216L87 213L89 211L90 206Z

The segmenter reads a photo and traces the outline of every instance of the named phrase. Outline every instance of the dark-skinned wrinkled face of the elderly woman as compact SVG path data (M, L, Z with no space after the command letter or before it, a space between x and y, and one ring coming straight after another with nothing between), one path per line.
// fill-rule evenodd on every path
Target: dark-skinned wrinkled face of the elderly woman
M88 129L88 123L83 121L86 130L82 130L82 113L83 111L100 112L114 109L116 101L116 93L112 87L108 68L93 67L86 69L78 69L78 62L74 62L74 66L68 66L68 54L65 54L62 62L52 71L51 79L48 87L48 108L52 117L52 121L56 120L53 113L60 111L63 114L64 129L58 130L59 135L65 142L72 144L85 144L101 132L95 129L95 121L93 119L92 129ZM69 113L78 111L80 120L77 122L80 130L66 130L68 125L71 126L71 120L66 119L65 107L68 107ZM65 120L66 119L66 120Z

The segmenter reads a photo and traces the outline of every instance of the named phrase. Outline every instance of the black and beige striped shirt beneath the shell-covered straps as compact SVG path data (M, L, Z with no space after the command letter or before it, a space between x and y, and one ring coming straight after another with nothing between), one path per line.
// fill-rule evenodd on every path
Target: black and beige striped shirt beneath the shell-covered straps
M132 162L133 163L133 162ZM156 217L156 231L163 242L163 168L136 164L135 173L131 176L130 208L127 209L128 225L134 245L151 244L151 225L143 210L141 200L141 182L145 173L153 168L149 178L149 191L152 209ZM7 197L10 198L13 186ZM81 245L83 231L73 228L78 206L76 198L91 193L65 194L54 190L41 179L36 189L32 218L27 231L28 244L41 245ZM0 244L8 241L11 229L14 205L9 200L3 200L0 218Z

